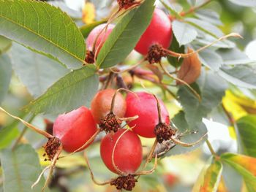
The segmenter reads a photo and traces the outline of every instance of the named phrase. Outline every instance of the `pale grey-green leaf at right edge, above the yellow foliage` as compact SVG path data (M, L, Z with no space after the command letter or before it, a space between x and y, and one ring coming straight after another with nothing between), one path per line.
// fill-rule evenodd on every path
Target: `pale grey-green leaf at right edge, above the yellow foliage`
M251 66L222 66L218 74L238 87L256 88L256 71Z

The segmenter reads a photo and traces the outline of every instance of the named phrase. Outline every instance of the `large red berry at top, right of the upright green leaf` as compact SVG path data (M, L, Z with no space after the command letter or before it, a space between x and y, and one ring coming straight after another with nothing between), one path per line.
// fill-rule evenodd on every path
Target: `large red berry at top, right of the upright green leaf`
M164 48L170 46L173 38L172 23L168 16L161 9L156 8L151 19L151 23L144 34L140 37L135 50L142 55L148 53L151 45L159 44Z

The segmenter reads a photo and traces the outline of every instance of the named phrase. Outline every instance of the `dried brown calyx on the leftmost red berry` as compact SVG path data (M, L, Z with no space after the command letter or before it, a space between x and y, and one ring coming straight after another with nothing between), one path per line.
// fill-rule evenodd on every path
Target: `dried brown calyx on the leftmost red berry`
M43 156L45 155L48 156L48 159L45 158L45 161L53 160L60 146L61 146L61 140L58 139L57 137L48 139L48 142L45 144L45 146L43 146L45 148L45 154Z

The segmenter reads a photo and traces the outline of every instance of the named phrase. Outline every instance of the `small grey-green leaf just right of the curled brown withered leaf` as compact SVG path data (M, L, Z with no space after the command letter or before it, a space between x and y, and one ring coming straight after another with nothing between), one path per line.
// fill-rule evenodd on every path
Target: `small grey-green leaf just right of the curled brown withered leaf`
M214 50L203 50L198 54L200 61L214 72L217 72L223 64L222 57L215 53Z

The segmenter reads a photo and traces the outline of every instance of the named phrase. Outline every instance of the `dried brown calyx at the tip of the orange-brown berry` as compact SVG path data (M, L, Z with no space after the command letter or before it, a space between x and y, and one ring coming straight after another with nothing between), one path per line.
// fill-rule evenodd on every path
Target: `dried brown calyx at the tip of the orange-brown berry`
M100 120L99 128L107 134L112 131L116 133L118 128L121 128L121 123L122 121L113 112L110 112L104 119Z

